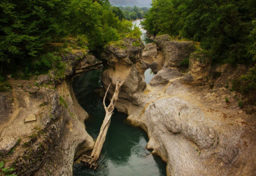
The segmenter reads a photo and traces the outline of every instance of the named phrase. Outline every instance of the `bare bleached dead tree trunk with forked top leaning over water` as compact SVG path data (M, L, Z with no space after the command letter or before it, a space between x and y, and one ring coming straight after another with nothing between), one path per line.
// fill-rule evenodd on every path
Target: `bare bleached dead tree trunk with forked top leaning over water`
M98 162L104 141L106 139L107 130L109 129L109 125L111 121L111 115L113 114L113 109L115 108L116 101L118 101L118 94L120 92L120 88L122 84L124 84L124 81L116 82L116 89L115 89L115 92L113 92L113 97L110 101L109 106L106 106L105 99L107 97L107 92L109 91L110 84L109 84L109 87L107 88L107 92L103 99L103 106L104 106L106 115L102 123L102 126L100 128L100 134L98 135L95 141L95 145L94 145L93 151L91 152L91 156L89 157L87 155L83 155L81 159L81 162L83 162L86 166L89 166L90 168L96 169L98 167L96 163Z

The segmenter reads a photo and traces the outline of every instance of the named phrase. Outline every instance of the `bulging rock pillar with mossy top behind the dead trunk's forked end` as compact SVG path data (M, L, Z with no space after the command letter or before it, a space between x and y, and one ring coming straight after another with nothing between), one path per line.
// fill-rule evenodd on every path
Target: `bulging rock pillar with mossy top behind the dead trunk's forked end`
M133 46L132 43L140 42L140 46ZM143 43L138 39L125 39L123 47L107 46L102 54L102 59L107 61L107 69L102 73L102 83L106 88L111 84L109 93L113 95L116 81L125 80L119 93L120 104L141 104L137 99L138 92L143 92L146 87L143 79L145 69L142 68L140 58L144 48ZM117 104L118 106L118 104ZM119 106L120 108L125 106ZM123 109L127 113L127 110Z

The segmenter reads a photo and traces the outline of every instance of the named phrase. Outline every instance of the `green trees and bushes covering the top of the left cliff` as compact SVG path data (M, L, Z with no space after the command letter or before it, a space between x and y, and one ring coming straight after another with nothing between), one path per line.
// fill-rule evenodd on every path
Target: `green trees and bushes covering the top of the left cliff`
M38 75L55 67L61 62L53 48L58 53L68 49L68 36L77 41L76 48L86 45L92 52L109 41L135 37L131 22L116 16L107 0L1 1L0 79L10 73Z

